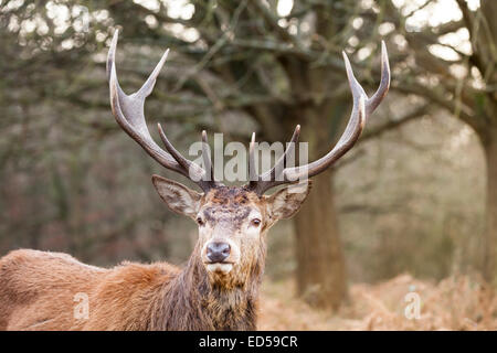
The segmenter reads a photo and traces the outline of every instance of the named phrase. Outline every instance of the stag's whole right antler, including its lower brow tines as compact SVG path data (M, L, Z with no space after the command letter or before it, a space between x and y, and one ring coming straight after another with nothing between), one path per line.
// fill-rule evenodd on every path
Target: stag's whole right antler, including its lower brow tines
M251 181L247 184L247 188L254 190L258 195L264 194L265 191L276 185L292 183L298 180L317 175L332 165L338 159L340 159L353 147L362 132L366 121L374 111L374 109L380 105L381 100L383 100L383 98L385 97L390 87L390 65L384 42L381 42L381 82L380 86L371 96L371 98L368 98L364 89L353 76L352 67L350 65L349 58L347 57L347 54L345 52L342 52L342 54L347 71L347 77L353 97L352 113L350 115L349 122L347 124L347 128L343 131L343 135L340 137L337 145L331 149L331 151L329 151L326 156L321 157L317 161L314 161L309 164L285 168L282 170L282 167L286 162L287 157L293 151L292 149L295 149L295 142L297 142L298 140L300 126L297 125L290 141L293 143L289 143L285 153L279 158L272 170L258 176L256 176L254 172L255 142L253 135L251 141L248 165ZM281 171L278 172L278 170Z

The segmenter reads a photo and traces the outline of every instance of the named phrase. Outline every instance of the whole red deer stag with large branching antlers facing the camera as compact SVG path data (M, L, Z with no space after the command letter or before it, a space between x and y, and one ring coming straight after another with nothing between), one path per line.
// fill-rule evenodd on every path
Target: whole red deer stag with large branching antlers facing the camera
M169 208L197 222L197 245L183 269L167 263L123 263L105 269L84 265L66 254L11 252L0 259L0 330L254 330L266 233L276 221L292 217L306 199L308 184L293 185L295 181L322 172L358 140L366 120L389 89L385 45L382 43L381 83L371 98L356 81L343 53L353 107L343 135L326 156L306 165L285 165L295 148L290 143L272 170L257 175L253 168L253 136L248 153L251 178L241 188L213 180L207 143L200 167L175 149L160 125L166 150L152 140L144 104L167 52L144 86L126 95L117 82L116 45L117 32L107 60L113 114L151 158L194 181L203 191L198 193L175 181L152 176ZM292 142L297 142L298 135L299 126ZM205 132L202 141L207 142ZM288 185L264 195L281 184ZM84 318L74 314L78 293L87 299Z

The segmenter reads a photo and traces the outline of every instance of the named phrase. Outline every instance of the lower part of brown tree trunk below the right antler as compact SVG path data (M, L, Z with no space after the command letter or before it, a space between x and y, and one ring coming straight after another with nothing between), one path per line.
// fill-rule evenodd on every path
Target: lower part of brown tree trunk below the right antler
M347 296L347 279L331 176L327 171L314 179L295 217L297 285L309 303L337 309Z

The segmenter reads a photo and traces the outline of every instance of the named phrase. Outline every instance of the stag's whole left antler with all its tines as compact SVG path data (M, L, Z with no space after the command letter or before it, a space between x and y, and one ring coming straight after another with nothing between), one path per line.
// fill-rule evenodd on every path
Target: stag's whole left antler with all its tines
M145 149L151 158L154 158L162 167L187 176L191 181L195 182L204 192L218 185L218 183L213 180L210 153L207 153L209 151L209 146L207 145L205 131L202 131L202 158L209 173L207 173L205 170L197 163L186 159L175 149L166 137L160 124L158 125L158 129L167 152L154 141L150 136L150 131L147 128L144 114L145 98L147 98L152 92L157 76L159 76L160 69L166 62L169 50L165 52L156 68L154 68L152 73L141 88L128 96L123 92L117 81L115 64L117 38L118 31L116 30L114 32L114 38L107 56L107 77L110 88L110 105L116 121L135 141L138 142L138 145Z

